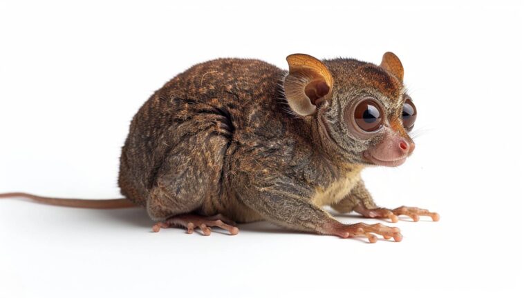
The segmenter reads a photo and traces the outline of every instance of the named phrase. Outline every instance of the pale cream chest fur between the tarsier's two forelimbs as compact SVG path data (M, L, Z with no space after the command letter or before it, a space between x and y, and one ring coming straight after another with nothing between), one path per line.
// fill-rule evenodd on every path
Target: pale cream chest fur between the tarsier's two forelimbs
M316 188L312 202L317 206L327 206L341 201L360 181L363 166L352 166L326 188Z

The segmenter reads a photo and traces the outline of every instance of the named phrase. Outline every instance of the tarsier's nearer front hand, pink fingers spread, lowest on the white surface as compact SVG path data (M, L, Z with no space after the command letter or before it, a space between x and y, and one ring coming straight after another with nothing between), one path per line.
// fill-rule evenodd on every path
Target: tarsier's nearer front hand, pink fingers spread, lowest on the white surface
M367 237L369 242L375 243L378 237L375 235L382 235L384 239L395 239L395 241L402 241L402 234L399 228L384 226L382 224L339 224L328 231L332 235L337 235L342 238L348 237Z

